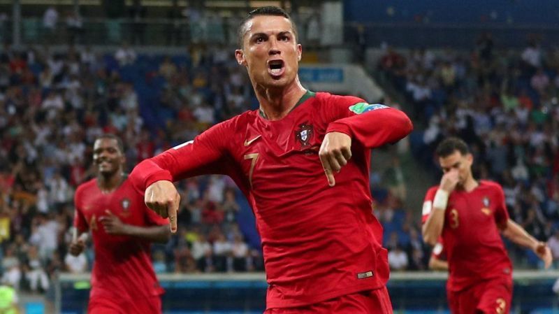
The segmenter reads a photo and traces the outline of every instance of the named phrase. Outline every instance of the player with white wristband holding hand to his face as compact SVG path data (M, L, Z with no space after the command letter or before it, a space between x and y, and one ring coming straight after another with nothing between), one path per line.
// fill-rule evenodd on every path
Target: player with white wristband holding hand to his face
M447 297L451 313L509 313L512 264L500 234L531 248L551 264L551 251L509 219L498 183L475 180L473 157L459 138L437 147L444 172L423 203L423 238L435 245L442 236L449 263Z

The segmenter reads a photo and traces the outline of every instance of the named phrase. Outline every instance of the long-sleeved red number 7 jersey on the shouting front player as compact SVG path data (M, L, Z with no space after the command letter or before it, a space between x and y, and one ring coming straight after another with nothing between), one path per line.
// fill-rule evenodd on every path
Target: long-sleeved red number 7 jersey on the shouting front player
M256 216L269 284L267 308L303 306L383 287L382 227L372 215L370 148L412 130L400 110L307 92L281 120L248 111L138 164L140 190L202 173L231 176ZM352 157L328 187L319 148L329 131L352 138Z

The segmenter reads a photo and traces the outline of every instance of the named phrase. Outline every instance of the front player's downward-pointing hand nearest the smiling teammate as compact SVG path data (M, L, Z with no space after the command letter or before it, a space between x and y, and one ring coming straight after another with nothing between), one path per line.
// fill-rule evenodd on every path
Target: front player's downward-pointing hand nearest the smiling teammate
M177 231L177 211L180 204L180 194L172 182L161 180L152 183L145 190L145 205L154 210L157 215L169 218L170 231Z

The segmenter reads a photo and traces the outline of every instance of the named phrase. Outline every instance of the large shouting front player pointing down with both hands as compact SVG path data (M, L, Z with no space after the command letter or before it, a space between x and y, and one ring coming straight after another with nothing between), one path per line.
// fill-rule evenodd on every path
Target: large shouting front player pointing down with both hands
M171 181L231 176L256 216L269 283L266 313L392 313L382 227L372 215L370 149L412 131L400 110L305 89L301 45L283 10L253 10L238 29L259 110L147 159L131 180L176 230ZM326 176L325 176L326 174Z

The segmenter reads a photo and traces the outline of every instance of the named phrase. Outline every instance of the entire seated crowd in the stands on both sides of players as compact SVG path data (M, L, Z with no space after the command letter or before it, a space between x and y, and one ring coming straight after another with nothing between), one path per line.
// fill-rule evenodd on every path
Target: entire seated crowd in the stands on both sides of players
M424 166L438 173L435 145L462 136L481 165L479 178L504 185L511 217L540 240L559 243L559 50L533 42L521 54L496 53L493 46L485 36L469 53L389 48L379 71L426 126L410 138ZM23 290L49 290L58 271L91 269L92 250L72 257L67 245L73 192L94 174L96 136L120 136L131 169L256 104L224 45L193 45L187 57L142 55L125 43L110 54L73 46L1 51L0 268L3 280ZM426 269L430 248L413 210L403 209L409 204L398 159L373 170L391 268ZM157 273L263 270L259 248L238 225L242 205L232 180L191 178L180 192L177 234L154 245ZM559 245L551 246L559 257Z

